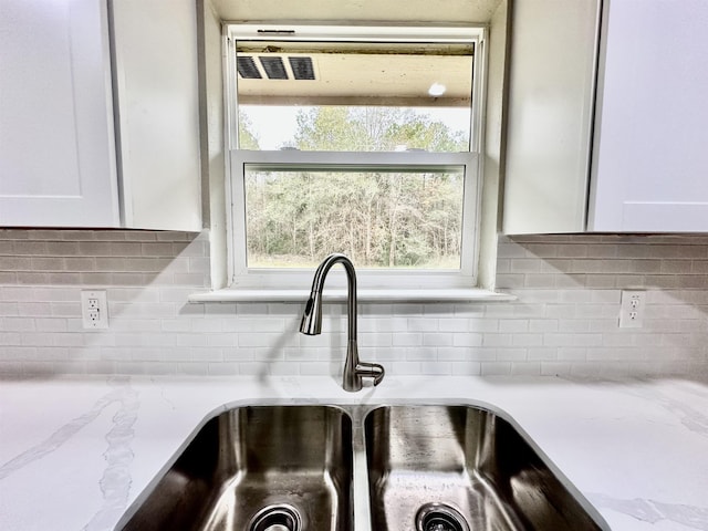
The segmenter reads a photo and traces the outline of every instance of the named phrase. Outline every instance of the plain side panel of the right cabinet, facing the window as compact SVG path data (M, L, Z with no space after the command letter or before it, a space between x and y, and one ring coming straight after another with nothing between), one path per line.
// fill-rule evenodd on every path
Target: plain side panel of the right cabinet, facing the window
M504 233L585 230L598 3L514 2Z

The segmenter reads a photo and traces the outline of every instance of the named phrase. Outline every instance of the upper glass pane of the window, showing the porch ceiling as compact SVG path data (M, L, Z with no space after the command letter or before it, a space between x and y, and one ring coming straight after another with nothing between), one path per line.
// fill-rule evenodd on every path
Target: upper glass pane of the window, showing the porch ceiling
M237 43L239 148L467 152L473 43Z

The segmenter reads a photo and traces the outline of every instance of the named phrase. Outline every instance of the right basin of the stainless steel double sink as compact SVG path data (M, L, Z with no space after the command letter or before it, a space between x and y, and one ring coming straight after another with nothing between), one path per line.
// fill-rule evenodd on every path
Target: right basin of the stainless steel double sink
M365 437L376 531L604 529L491 410L383 406L366 416Z

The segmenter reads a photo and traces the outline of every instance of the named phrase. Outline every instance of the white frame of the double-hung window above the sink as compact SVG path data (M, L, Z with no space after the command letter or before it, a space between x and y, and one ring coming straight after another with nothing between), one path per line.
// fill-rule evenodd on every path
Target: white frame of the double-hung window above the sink
M291 40L326 39L331 41L378 42L475 42L470 150L464 153L428 152L299 152L238 149L238 104L236 41L282 39L283 29ZM333 27L293 24L225 25L225 94L227 112L227 242L229 289L303 290L312 282L312 269L249 269L246 244L244 167L249 164L292 166L342 166L356 169L381 166L402 170L464 167L462 230L460 269L404 270L357 268L360 290L449 290L477 287L479 263L479 218L482 175L482 139L487 53L486 29L475 27ZM322 257L324 258L324 257ZM356 266L356 263L355 263ZM343 287L344 275L334 275L327 285Z

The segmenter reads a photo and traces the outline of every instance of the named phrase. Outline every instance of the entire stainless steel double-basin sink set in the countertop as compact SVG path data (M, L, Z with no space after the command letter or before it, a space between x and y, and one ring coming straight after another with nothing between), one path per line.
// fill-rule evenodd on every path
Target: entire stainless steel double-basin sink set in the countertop
M118 530L608 530L487 406L256 405L209 416Z

